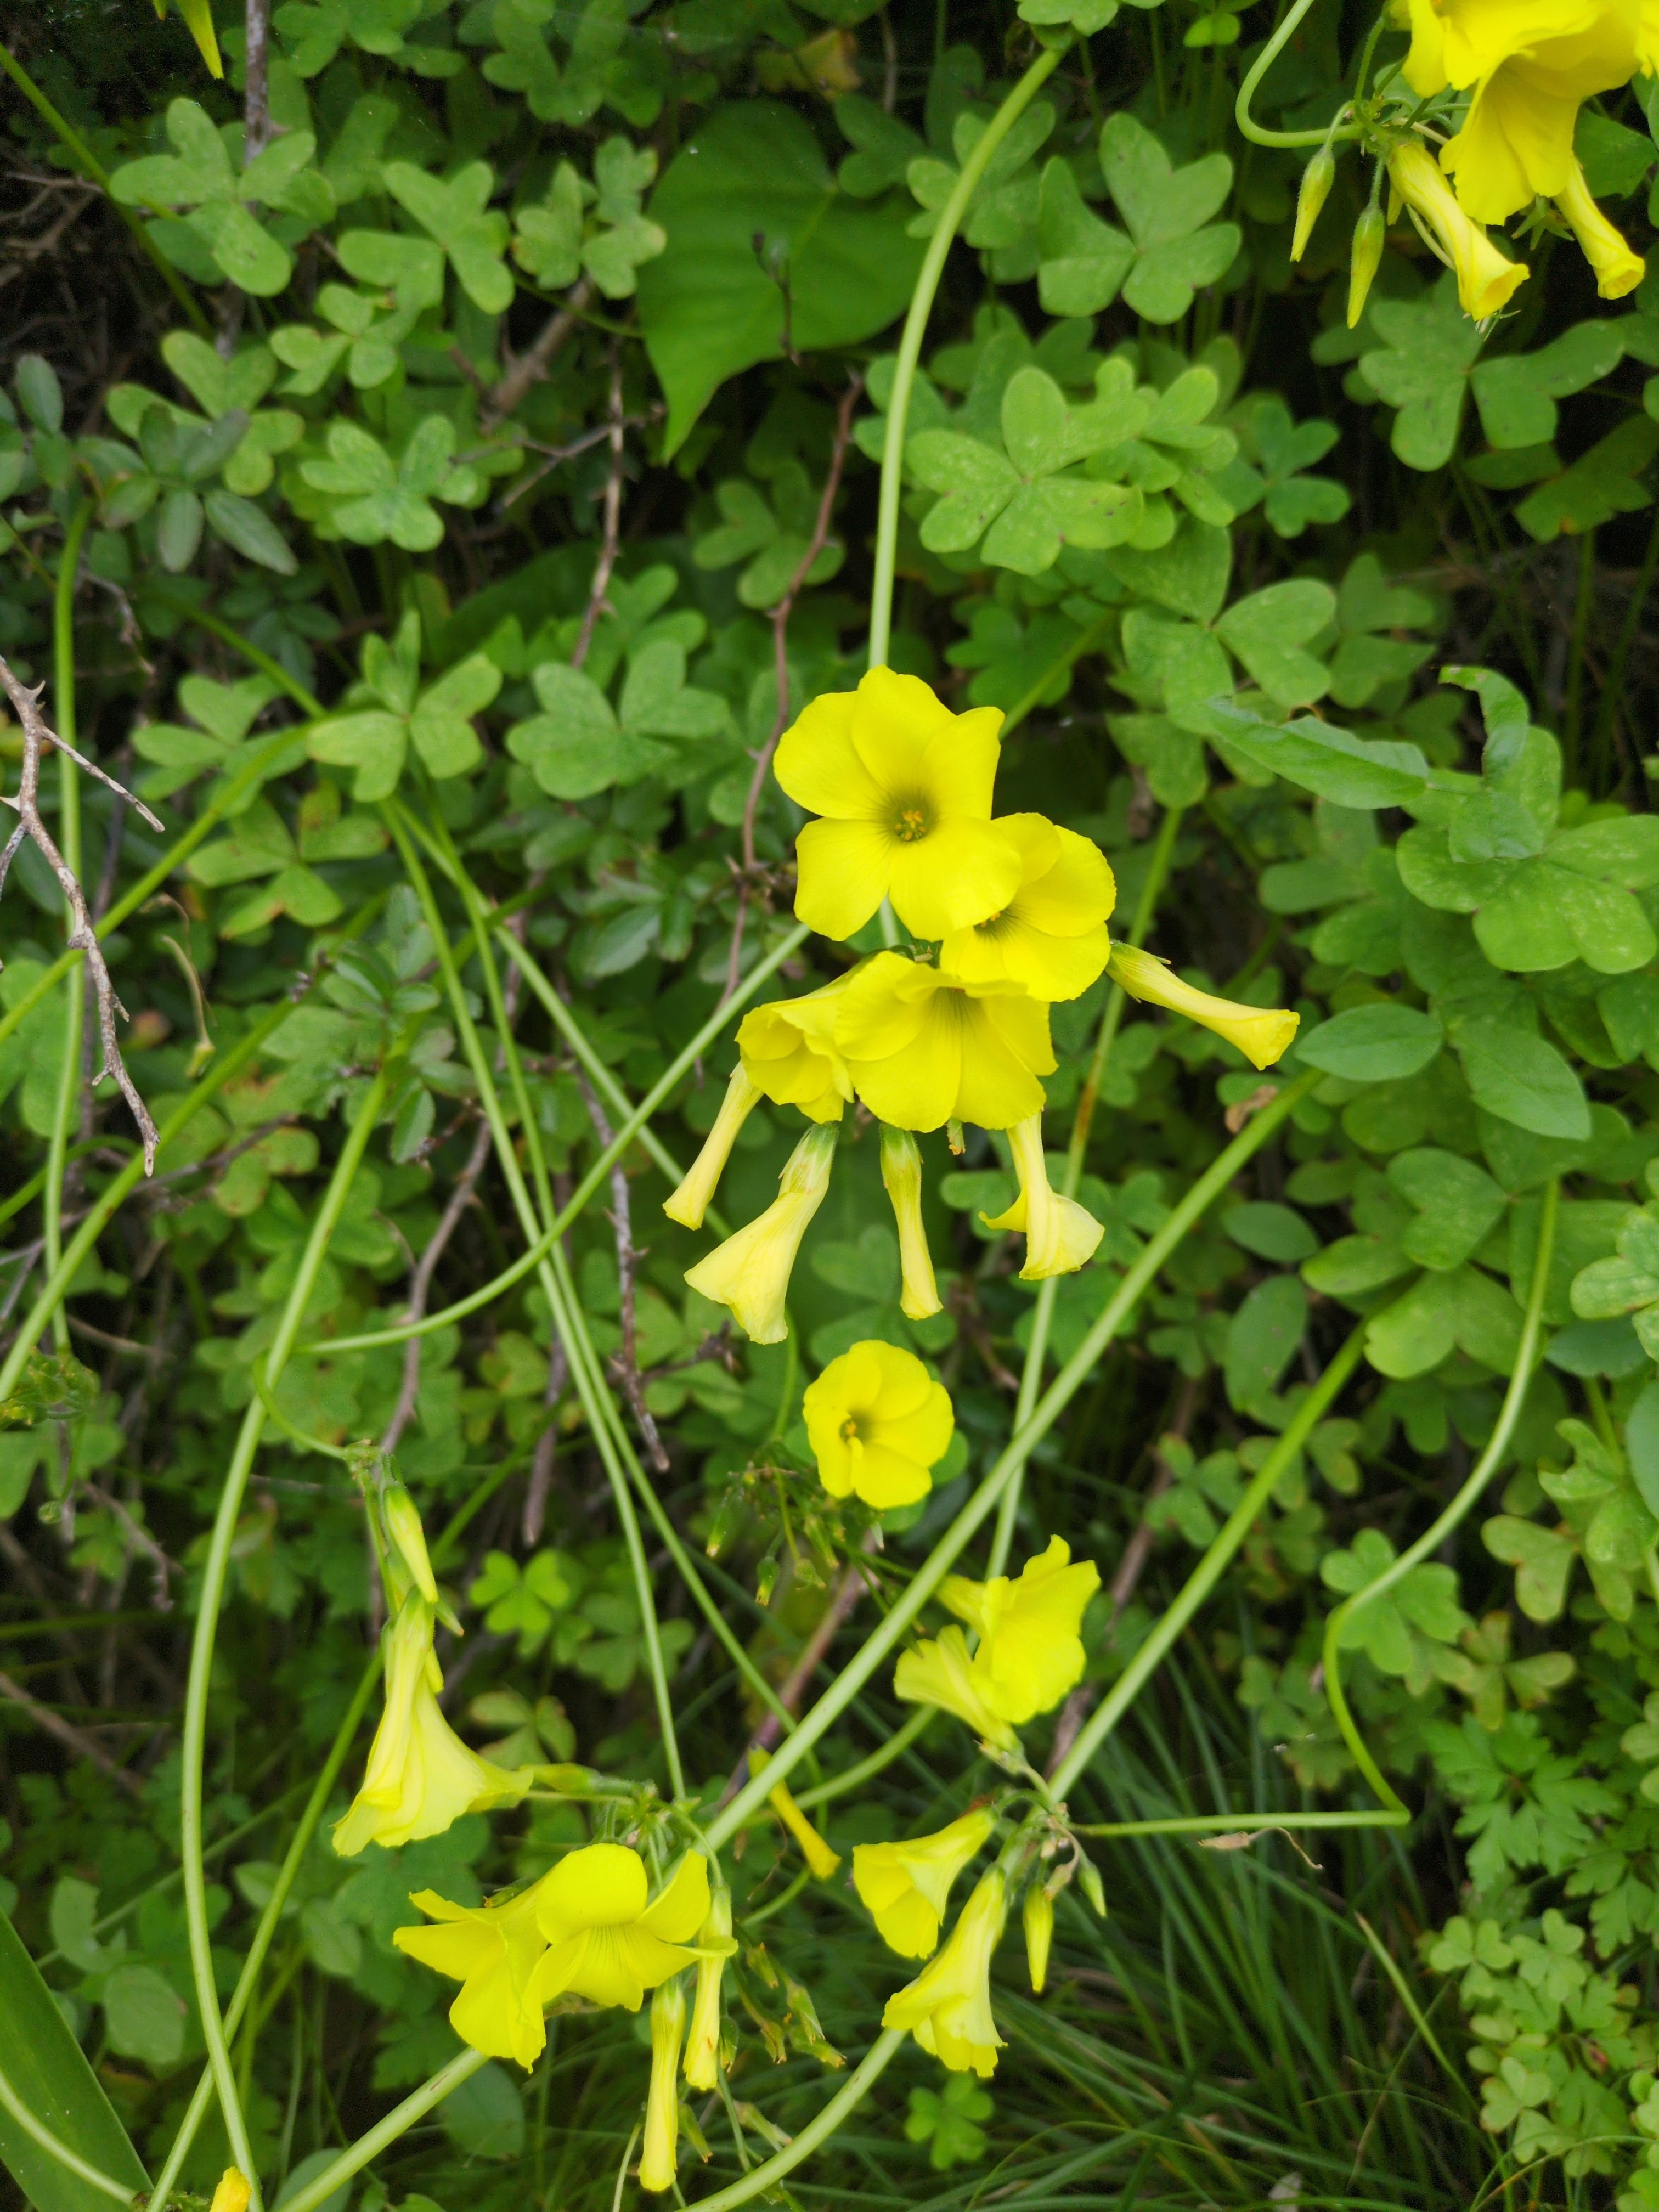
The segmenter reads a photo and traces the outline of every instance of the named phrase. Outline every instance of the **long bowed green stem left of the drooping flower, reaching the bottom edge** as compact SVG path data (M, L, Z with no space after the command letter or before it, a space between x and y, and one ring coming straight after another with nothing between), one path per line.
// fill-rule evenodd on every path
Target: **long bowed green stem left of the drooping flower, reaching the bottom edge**
M442 942L442 940L440 940ZM445 947L447 949L447 947ZM374 1124L380 1119L380 1108L385 1106L389 1075L396 1062L403 1057L403 1046L387 1060L387 1064L369 1082L367 1091L356 1110L356 1119L347 1130L345 1144L341 1146L341 1157L334 1164L334 1172L327 1181L327 1190L316 1208L316 1219L312 1221L312 1232L305 1239L305 1250L294 1274L294 1285L288 1292L288 1303L276 1321L276 1334L272 1336L270 1349L265 1354L265 1380L276 1387L283 1367L290 1360L294 1343L299 1340L299 1325L305 1316L312 1290L316 1287L316 1276L321 1272L323 1259L327 1254L334 1228L345 1210L345 1199L356 1179L356 1170L367 1150L369 1137L374 1135ZM252 2212L259 2212L259 2179L252 2163L252 2150L248 2143L248 2126L241 2115L241 2099L237 2097L237 2079L230 2068L230 2051L226 2044L223 2017L219 2013L219 1993L212 1978L212 1944L208 1933L208 1882L201 1865L201 1794L204 1794L204 1752L208 1739L208 1686L212 1681L212 1646L219 1628L219 1608L223 1606L226 1579L230 1575L230 1546L237 1535L237 1520L241 1515L241 1500L248 1489L248 1475L252 1473L254 1458L259 1453L259 1440L265 1433L265 1407L259 1398L252 1398L248 1411L241 1418L241 1433L237 1436L237 1449L230 1455L230 1467L226 1471L223 1491L219 1493L219 1511L212 1522L212 1540L208 1544L208 1559L201 1573L201 1597L197 1610L195 1637L190 1641L190 1679L184 1697L184 1781L179 1790L179 1849L184 1858L184 1916L190 1931L190 1975L197 1991L197 2008L201 2013L201 2039L208 2046L208 2066L212 2070L212 2086L219 2093L219 2108L226 2121L226 2135L230 2137L230 2157L248 2174L252 2183Z

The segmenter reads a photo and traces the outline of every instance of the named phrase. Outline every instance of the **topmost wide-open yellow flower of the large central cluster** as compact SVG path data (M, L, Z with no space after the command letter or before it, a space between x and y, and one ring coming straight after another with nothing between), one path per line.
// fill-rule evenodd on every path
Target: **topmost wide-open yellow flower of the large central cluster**
M984 920L1020 883L1020 852L991 823L1000 708L951 714L920 677L872 668L783 732L776 779L825 821L794 841L794 911L825 938L863 929L883 898L920 938Z

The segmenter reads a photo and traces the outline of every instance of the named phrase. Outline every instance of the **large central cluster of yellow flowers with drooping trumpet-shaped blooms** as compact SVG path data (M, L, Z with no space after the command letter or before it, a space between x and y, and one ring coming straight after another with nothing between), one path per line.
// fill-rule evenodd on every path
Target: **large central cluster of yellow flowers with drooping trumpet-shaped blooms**
M1256 1066L1285 1051L1296 1015L1192 991L1150 953L1113 947L1117 896L1104 854L1042 814L993 816L995 708L953 714L918 677L872 668L854 692L814 699L783 732L776 776L816 814L796 838L796 916L852 938L889 909L911 951L885 949L803 998L757 1006L697 1164L664 1212L701 1228L743 1119L765 1097L812 1121L776 1201L688 1270L757 1343L787 1334L801 1239L830 1188L836 1128L858 1102L883 1126L883 1183L902 1261L902 1310L940 1310L920 1210L916 1135L1006 1130L1020 1197L991 1228L1026 1239L1024 1281L1082 1267L1102 1225L1048 1183L1042 1077L1055 1073L1048 1009L1110 964L1135 998L1241 1042Z

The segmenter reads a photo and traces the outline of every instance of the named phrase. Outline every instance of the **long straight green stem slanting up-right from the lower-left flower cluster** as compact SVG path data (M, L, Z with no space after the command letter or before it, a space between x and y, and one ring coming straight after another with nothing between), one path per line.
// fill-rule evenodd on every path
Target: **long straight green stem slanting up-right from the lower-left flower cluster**
M1323 1077L1318 1071L1310 1068L1307 1075L1298 1075L1296 1082L1285 1084L1279 1097L1254 1115L1254 1119L1223 1152L1217 1155L1217 1159L1210 1161L1186 1197L1170 1210L1170 1219L1155 1237L1148 1239L1141 1256L1124 1274L1124 1281L1106 1301L1106 1307L1095 1318L1084 1340L1033 1407L1031 1420L1015 1429L1009 1438L978 1491L973 1491L933 1551L918 1566L902 1597L894 1601L891 1610L872 1630L863 1648L847 1661L836 1681L830 1683L812 1712L805 1714L787 1743L781 1743L772 1759L757 1774L750 1774L750 1781L737 1792L732 1803L710 1820L706 1836L710 1849L719 1849L728 1836L734 1836L739 1827L754 1818L759 1807L765 1805L770 1792L785 1781L794 1765L847 1710L854 1697L863 1690L922 1610L938 1584L951 1571L951 1564L967 1548L975 1528L995 1509L1004 1484L1011 1482L1015 1471L1024 1467L1035 1444L1042 1442L1082 1385L1091 1378L1102 1352L1115 1340L1117 1332L1130 1318L1164 1261L1170 1252L1175 1252L1186 1232L1203 1217L1214 1199L1221 1197L1243 1164L1261 1150L1285 1115L1292 1113L1318 1082L1323 1082Z

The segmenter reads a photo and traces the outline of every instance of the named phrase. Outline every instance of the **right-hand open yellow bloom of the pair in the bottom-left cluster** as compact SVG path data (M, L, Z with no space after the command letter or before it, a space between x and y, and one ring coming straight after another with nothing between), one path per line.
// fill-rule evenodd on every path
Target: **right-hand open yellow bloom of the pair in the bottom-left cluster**
M648 1989L697 1962L686 1944L708 1920L708 1860L688 1851L648 1902L644 1858L619 1843L588 1843L544 1874L533 1896L549 1949L531 1975L531 2002L575 1995L637 2013Z

